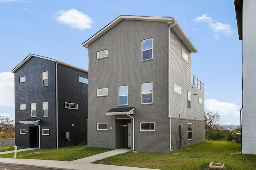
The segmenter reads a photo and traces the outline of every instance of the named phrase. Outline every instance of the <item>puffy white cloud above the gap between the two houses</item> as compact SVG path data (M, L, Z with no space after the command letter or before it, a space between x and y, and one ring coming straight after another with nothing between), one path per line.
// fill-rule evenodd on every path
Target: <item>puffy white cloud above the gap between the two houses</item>
M60 10L55 14L57 21L61 24L70 25L71 29L85 30L91 28L92 18L76 9Z

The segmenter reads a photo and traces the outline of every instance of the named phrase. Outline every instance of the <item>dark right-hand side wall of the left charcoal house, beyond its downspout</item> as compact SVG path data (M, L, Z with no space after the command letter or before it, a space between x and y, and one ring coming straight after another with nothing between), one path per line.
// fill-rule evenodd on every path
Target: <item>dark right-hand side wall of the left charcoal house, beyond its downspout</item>
M88 84L78 82L79 76L88 78L88 73L58 64L59 147L87 144ZM78 104L78 109L65 109L65 102Z

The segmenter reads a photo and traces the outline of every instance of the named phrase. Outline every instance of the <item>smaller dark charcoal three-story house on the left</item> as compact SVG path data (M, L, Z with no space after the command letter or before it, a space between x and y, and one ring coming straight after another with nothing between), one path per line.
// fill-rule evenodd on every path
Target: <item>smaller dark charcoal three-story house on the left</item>
M88 71L30 54L14 72L15 145L87 144Z

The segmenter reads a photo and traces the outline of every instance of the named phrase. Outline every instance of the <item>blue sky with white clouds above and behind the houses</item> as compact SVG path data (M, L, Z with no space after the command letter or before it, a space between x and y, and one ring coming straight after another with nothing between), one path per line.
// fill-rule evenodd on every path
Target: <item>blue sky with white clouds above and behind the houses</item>
M30 53L88 70L81 44L120 15L172 16L198 49L205 108L240 124L242 41L233 0L0 0L0 115L14 117L14 75ZM89 70L90 72L90 70Z

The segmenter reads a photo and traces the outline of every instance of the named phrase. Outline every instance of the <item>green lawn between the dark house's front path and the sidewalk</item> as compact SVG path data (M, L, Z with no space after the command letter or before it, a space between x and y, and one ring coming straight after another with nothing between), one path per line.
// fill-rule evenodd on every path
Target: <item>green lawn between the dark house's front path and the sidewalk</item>
M80 145L74 147L63 147L58 149L35 149L17 152L16 158L23 159L44 159L44 160L63 160L72 161L94 154L107 152L112 149L106 148L93 148L87 147L87 145ZM40 154L31 155L30 153L42 152ZM14 158L14 153L0 155L2 158Z

